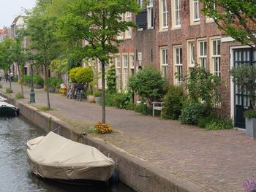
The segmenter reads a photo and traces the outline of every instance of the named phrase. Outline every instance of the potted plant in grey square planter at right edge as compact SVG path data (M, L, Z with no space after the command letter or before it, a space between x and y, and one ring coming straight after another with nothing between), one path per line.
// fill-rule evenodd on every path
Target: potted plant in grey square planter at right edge
M256 66L243 64L233 67L230 70L233 76L233 82L238 85L240 91L246 91L252 104L252 110L244 112L246 136L252 139L256 138L256 107L255 107L255 91L256 91Z

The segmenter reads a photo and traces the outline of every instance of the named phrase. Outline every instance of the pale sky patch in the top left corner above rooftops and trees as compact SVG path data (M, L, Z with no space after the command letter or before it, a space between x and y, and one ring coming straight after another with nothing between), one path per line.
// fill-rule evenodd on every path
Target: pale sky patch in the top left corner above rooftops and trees
M24 15L23 8L31 9L35 4L36 0L0 0L0 29L10 27L18 15Z

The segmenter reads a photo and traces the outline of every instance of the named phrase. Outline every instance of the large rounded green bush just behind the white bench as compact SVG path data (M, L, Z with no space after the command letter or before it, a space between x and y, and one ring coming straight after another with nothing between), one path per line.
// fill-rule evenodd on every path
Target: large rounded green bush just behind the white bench
M150 104L165 95L165 85L167 85L167 79L162 77L162 72L151 66L140 69L135 75L129 77L128 82L129 88L139 96L148 99Z

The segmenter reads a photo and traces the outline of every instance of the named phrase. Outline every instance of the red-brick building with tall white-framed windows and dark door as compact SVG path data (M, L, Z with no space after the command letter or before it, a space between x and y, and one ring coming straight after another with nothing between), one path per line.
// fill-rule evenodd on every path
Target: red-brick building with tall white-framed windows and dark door
M256 51L225 37L214 20L200 12L202 8L199 0L150 0L140 14L124 14L124 20L132 19L139 28L118 36L124 39L113 61L118 91L126 90L127 79L142 66L155 66L171 85L179 85L181 79L174 74L187 74L199 64L222 77L220 110L233 118L235 126L244 128L243 112L251 108L249 98L238 92L229 70L236 64L255 64Z

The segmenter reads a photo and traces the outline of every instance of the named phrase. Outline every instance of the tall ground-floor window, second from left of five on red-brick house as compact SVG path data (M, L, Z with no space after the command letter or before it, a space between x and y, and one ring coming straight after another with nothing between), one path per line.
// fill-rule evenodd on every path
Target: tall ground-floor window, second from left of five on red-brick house
M174 47L174 65L176 72L176 84L181 85L182 83L182 48Z

